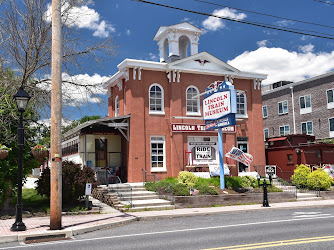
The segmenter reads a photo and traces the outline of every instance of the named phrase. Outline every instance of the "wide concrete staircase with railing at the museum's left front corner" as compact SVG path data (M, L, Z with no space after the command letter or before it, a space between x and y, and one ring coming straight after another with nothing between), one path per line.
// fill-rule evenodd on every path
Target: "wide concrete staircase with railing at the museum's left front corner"
M108 189L117 193L120 201L118 205L126 211L175 209L171 201L159 199L155 192L146 191L142 182L109 184Z

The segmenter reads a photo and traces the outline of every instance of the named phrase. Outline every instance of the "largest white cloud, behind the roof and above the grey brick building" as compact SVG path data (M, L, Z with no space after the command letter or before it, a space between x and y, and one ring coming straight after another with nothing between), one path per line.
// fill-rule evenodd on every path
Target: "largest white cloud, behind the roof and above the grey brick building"
M282 48L261 47L246 51L229 64L237 69L268 74L263 84L281 80L301 81L334 70L334 51L327 53L298 53Z

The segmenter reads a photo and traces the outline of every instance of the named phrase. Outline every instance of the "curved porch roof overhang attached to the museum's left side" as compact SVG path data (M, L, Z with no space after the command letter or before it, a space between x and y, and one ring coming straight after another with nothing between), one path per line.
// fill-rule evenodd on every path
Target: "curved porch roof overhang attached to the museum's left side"
M129 141L129 118L131 115L118 116L118 117L104 117L101 119L87 121L77 127L71 129L63 135L63 138L71 137L73 135L80 134L81 130L94 125L104 125L109 128L117 129L127 141Z

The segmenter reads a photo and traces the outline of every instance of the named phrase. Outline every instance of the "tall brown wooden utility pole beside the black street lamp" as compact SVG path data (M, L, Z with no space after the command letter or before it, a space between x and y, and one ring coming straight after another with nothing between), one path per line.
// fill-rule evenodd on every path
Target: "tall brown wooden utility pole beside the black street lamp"
M62 36L61 0L52 0L52 62L51 62L51 200L50 229L61 229L62 212Z

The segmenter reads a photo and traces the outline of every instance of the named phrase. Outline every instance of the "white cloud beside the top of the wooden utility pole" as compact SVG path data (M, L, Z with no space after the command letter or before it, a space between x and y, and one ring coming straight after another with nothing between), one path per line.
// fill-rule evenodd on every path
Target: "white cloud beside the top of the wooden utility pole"
M69 4L65 1L62 6L62 10L68 8ZM52 9L49 5L48 10L45 13L45 19L51 21ZM89 8L87 5L80 7L73 7L69 10L66 17L63 18L63 22L68 27L77 27L79 29L93 30L93 36L108 37L111 32L115 32L115 28L108 24L104 20L100 20L100 14L94 9Z

